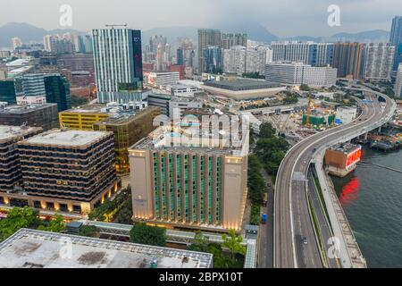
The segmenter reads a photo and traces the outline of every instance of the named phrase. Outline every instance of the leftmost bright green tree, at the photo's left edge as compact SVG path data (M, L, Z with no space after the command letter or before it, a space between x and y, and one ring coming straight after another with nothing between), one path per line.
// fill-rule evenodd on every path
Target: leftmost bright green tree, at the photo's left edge
M28 228L38 224L37 213L29 206L13 207L7 218L0 221L0 240L12 236L21 228Z

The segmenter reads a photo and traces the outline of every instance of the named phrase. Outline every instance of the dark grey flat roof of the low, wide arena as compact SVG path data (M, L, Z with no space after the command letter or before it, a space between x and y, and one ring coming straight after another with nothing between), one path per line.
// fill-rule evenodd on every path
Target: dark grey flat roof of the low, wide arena
M206 81L204 85L207 87L229 89L232 91L281 87L280 84L268 82L265 80L245 80L245 79Z

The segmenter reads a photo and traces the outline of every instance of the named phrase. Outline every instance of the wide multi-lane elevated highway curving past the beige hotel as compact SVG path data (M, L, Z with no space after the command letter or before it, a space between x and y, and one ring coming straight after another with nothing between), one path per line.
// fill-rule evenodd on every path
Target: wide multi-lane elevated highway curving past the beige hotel
M322 267L318 245L314 238L313 224L307 208L307 170L318 147L339 140L348 134L356 136L364 128L378 122L389 112L389 98L382 111L375 92L366 94L373 103L362 105L362 114L346 125L325 130L304 139L292 147L282 160L277 174L274 198L274 267ZM382 95L383 96L383 95ZM306 238L307 244L303 243Z

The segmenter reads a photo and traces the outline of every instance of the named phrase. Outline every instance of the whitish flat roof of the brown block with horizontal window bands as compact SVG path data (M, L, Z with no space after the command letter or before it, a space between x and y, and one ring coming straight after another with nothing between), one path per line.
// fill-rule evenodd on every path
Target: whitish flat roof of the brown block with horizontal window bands
M50 130L26 141L33 144L81 146L105 136L104 131Z

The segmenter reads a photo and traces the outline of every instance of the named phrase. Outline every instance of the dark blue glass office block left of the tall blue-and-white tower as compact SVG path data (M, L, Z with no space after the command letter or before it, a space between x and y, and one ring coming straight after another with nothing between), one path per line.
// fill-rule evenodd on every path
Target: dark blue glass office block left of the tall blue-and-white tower
M44 77L46 102L57 104L59 112L71 108L70 83L60 74L46 74Z

